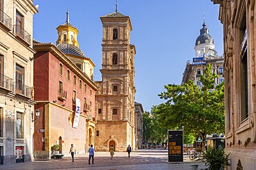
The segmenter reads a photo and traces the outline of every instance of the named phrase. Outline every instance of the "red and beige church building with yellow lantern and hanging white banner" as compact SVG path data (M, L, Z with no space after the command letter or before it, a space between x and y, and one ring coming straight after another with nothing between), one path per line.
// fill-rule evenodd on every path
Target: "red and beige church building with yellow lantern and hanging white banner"
M68 14L66 23L57 30L59 39L66 34L66 42L57 41L57 46L33 43L37 51L34 56L35 108L41 112L35 120L33 136L37 159L51 158L53 145L60 145L59 152L64 155L68 154L71 144L77 153L86 153L89 145L94 145L97 86L92 74L86 72L93 63L77 47L77 34L74 34L77 29L69 23ZM71 35L75 43L68 41ZM83 66L79 67L74 60Z

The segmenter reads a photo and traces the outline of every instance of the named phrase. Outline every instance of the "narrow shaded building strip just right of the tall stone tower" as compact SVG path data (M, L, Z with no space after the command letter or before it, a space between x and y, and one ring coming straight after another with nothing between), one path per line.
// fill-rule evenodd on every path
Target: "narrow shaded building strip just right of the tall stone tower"
M136 149L143 149L143 105L135 103L134 128L136 136Z

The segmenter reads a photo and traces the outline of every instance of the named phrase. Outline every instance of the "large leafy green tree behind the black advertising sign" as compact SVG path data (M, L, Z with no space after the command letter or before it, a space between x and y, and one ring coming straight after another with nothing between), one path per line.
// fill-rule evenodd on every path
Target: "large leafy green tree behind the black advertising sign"
M188 81L184 85L165 85L167 92L158 96L165 103L154 107L159 123L168 129L185 127L184 134L201 136L203 146L206 134L224 132L224 86L214 86L217 74L211 74L212 67L205 68L201 75L202 87Z

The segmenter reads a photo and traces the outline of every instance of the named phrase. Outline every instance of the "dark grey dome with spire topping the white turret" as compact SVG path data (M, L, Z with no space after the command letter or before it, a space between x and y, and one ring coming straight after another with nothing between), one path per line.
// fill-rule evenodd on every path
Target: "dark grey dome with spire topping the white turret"
M205 22L203 22L203 28L200 30L200 35L196 39L196 45L202 43L214 44L214 40L212 39L212 36L210 36L208 28L206 28Z

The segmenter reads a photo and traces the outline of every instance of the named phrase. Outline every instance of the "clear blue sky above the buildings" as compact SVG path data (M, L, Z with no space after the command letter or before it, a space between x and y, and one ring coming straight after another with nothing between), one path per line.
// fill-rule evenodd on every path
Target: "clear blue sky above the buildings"
M33 38L41 42L57 40L57 26L70 23L78 30L78 43L95 63L94 80L101 80L102 23L100 17L114 12L116 0L34 0L39 13L34 16ZM136 45L135 100L150 111L164 103L158 94L164 85L180 84L185 63L194 57L194 43L205 23L218 54L223 54L223 33L219 6L210 0L119 0L118 12L131 18L131 43Z

